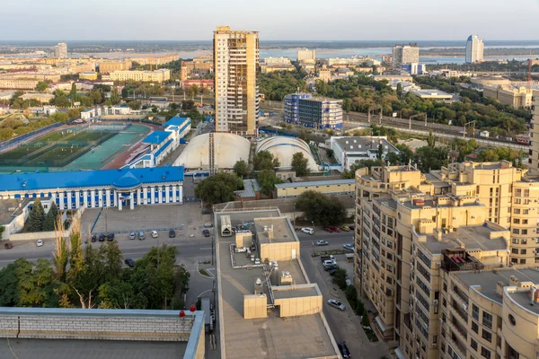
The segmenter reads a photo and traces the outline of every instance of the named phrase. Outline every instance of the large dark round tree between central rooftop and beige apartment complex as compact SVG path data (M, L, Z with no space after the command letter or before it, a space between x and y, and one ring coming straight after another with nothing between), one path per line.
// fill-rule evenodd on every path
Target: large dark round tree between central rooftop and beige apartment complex
M336 197L328 197L313 190L305 191L296 201L296 208L305 213L308 222L336 225L346 220L346 208Z

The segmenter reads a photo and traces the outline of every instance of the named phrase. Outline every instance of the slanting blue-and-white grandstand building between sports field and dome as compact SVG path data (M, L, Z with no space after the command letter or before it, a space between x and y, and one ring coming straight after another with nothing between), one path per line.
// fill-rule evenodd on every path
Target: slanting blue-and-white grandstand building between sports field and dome
M163 124L163 130L154 131L144 140L141 148L126 165L128 168L148 168L158 166L166 156L174 151L190 132L190 118L173 117Z

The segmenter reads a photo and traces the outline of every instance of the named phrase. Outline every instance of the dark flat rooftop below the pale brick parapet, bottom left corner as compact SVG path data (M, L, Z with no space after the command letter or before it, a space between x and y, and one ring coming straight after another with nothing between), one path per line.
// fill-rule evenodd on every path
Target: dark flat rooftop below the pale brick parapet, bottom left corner
M147 342L129 340L0 340L0 358L19 359L178 359L187 342ZM16 355L16 356L15 356Z

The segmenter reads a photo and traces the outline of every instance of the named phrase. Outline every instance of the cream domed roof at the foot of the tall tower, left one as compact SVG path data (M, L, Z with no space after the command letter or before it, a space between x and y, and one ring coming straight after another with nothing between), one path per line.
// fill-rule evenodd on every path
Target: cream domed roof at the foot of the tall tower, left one
M232 169L235 162L249 161L251 142L233 134L215 133L214 155L217 169ZM174 161L186 169L209 169L209 134L195 136Z

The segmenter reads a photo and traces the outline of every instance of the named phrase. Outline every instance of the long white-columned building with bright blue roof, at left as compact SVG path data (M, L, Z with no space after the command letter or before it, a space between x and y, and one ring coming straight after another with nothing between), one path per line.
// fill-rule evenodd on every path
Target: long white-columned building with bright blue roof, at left
M51 198L62 210L181 204L183 167L0 175L0 199L11 198Z

